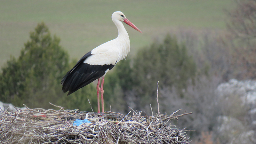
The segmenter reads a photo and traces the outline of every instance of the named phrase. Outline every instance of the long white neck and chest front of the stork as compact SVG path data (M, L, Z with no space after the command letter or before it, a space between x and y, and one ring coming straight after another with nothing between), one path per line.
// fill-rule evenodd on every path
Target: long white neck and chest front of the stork
M120 43L119 48L122 51L121 60L126 58L130 52L130 39L123 23L120 20L113 21L118 29L118 36L116 40Z

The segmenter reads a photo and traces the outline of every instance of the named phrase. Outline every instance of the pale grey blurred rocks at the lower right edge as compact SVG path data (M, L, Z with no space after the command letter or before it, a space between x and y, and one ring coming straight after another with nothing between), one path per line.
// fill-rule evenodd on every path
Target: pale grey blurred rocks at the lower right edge
M238 81L231 79L217 87L216 94L220 98L220 105L236 105L229 107L238 111L234 115L219 116L217 119L216 133L222 143L228 144L255 144L256 143L256 81ZM236 100L235 100L236 99ZM225 103L226 102L226 103ZM233 102L233 103L232 103ZM223 104L224 103L224 104ZM239 112L238 109L244 109ZM229 111L231 111L229 109ZM225 109L223 110L225 111ZM244 113L241 113L243 112ZM239 114L241 113L241 114ZM241 116L243 116L241 118ZM243 120L241 120L243 119Z

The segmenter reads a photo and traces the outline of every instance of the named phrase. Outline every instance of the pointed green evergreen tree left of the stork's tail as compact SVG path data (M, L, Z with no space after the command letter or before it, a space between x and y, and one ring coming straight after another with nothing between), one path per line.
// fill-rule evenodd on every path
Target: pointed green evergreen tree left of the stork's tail
M59 45L60 39L51 37L42 22L30 33L20 57L11 57L0 74L0 99L21 107L48 108L64 94L60 81L68 70L68 54Z

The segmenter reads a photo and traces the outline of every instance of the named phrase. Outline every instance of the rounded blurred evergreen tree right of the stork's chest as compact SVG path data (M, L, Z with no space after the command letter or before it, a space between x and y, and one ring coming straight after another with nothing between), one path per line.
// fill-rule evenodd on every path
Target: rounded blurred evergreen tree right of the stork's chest
M176 87L180 97L187 81L196 74L196 64L188 56L186 47L179 45L176 38L167 35L163 44L154 43L140 50L133 64L133 80L138 97L146 105L156 102L157 81L159 88ZM140 104L144 105L144 104Z

